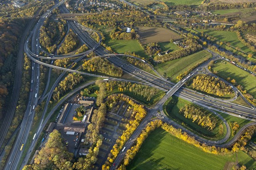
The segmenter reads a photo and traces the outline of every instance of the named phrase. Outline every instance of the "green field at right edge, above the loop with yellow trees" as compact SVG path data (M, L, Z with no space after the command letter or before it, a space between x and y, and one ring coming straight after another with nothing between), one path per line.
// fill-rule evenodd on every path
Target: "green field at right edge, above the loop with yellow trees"
M221 60L212 66L212 70L217 71L217 75L224 79L227 79L227 77L235 79L237 84L242 85L253 98L256 98L256 78L249 72L244 71L229 62L223 64L221 63Z

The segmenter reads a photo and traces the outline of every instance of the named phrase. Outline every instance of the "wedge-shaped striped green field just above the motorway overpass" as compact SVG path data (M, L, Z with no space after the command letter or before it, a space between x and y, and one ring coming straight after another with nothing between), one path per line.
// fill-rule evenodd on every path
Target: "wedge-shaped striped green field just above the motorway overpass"
M170 77L170 79L173 82L177 82L176 77L179 74L189 70L198 62L202 62L205 59L209 59L210 57L211 57L211 54L203 50L195 54L189 55L187 57L182 57L179 59L161 63L157 65L155 68L160 74L163 75L166 73L166 76Z

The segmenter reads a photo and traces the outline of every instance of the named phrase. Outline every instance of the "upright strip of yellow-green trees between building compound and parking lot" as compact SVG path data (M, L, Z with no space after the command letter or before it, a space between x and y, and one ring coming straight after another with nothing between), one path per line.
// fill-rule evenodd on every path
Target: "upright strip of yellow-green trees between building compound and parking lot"
M92 165L96 163L99 147L102 145L102 136L99 135L99 131L106 119L106 113L107 108L104 103L100 105L98 110L94 110L91 124L88 125L88 130L85 136L86 142L92 143L92 146L90 147L87 156L85 158L79 158L74 164L76 170L90 170L92 169Z

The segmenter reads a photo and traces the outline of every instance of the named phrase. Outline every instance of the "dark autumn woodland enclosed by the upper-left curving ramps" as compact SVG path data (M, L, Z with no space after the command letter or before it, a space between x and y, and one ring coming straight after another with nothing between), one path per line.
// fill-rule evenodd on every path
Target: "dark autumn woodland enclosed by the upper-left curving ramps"
M65 20L61 20L58 23L55 21L50 21L49 17L44 21L44 25L40 28L40 44L42 47L46 48L49 53L53 53L58 43L65 36Z

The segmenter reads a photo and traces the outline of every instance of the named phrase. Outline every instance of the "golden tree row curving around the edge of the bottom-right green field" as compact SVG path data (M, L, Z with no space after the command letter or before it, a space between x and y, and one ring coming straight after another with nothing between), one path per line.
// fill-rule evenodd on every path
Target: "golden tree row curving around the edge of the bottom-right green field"
M129 150L127 150L127 153L125 154L123 164L121 164L118 167L118 170L125 170L126 166L129 164L129 162L134 159L136 156L136 153L138 153L141 145L145 141L145 139L148 137L148 135L155 130L155 128L161 127L163 130L166 130L168 133L172 134L173 136L182 139L183 141L194 145L195 147L198 147L205 152L212 153L212 154L218 154L218 155L225 155L230 153L235 153L239 149L244 150L247 152L247 149L244 148L244 146L247 144L247 142L251 139L251 136L256 132L256 126L250 126L246 129L246 131L241 135L239 140L231 146L232 149L229 148L219 148L215 146L207 146L206 144L200 143L197 140L195 140L195 137L189 136L186 132L183 132L181 129L176 129L172 125L168 125L166 123L163 123L161 120L157 120L154 122L148 123L148 125L145 127L145 129L142 130L142 133L137 138L136 143L134 146L132 146ZM255 154L252 152L252 154ZM255 155L253 155L255 156ZM235 168L234 170L245 170L246 167L243 165L240 168Z

